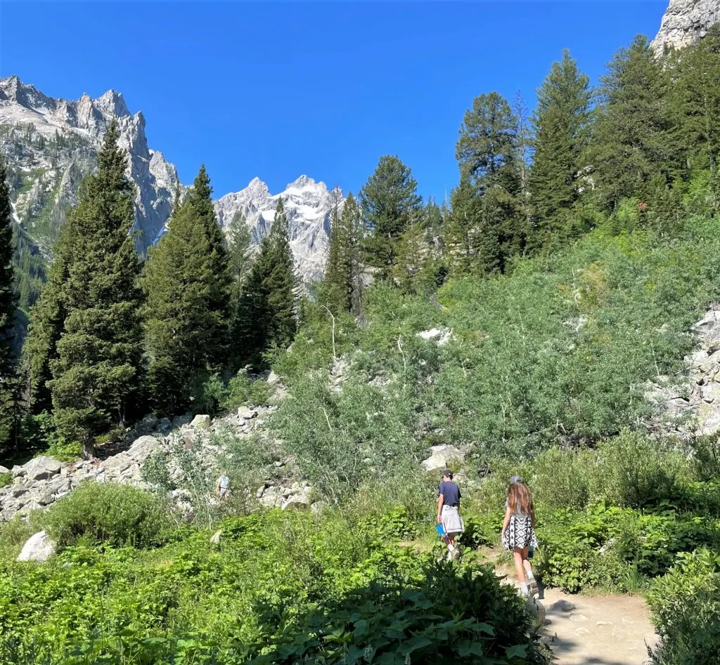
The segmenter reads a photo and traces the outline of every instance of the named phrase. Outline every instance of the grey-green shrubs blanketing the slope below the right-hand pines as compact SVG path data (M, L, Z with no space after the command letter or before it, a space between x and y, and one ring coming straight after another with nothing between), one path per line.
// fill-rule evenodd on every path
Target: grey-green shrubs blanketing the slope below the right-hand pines
M436 298L374 285L366 326L336 317L334 347L329 316L310 303L292 349L276 354L291 395L271 426L338 497L435 444L479 465L595 446L642 426L646 383L683 370L690 326L720 297L719 250L720 220L698 218L672 240L598 230ZM451 340L418 336L432 328Z

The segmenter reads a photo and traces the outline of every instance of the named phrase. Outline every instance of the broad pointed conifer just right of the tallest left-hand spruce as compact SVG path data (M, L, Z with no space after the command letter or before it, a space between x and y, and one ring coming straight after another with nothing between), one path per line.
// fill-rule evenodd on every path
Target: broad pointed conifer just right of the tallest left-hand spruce
M193 382L228 362L232 276L211 193L201 168L145 266L148 385L161 413L187 408Z

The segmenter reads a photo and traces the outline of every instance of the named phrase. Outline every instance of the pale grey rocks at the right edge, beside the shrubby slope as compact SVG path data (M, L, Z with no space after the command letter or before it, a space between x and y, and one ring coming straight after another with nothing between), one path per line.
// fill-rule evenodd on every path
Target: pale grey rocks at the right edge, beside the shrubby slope
M649 423L662 436L716 434L720 431L720 303L693 326L696 350L685 358L683 377L660 376L647 385L654 405Z

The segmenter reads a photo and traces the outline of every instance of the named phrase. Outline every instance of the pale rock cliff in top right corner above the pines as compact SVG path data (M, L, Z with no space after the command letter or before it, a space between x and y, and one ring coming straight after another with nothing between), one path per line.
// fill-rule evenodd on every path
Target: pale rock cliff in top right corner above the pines
M655 52L680 49L701 40L708 28L720 22L720 0L670 0L660 32L652 42Z

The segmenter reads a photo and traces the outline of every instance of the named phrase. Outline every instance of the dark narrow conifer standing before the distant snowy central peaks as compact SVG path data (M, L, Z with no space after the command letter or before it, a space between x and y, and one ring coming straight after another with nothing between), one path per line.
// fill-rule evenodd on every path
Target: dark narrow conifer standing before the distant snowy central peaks
M246 357L258 365L267 349L287 347L297 328L297 277L288 234L287 214L279 198L270 232L262 239L240 298L239 342Z

